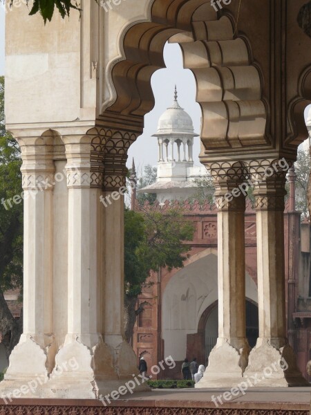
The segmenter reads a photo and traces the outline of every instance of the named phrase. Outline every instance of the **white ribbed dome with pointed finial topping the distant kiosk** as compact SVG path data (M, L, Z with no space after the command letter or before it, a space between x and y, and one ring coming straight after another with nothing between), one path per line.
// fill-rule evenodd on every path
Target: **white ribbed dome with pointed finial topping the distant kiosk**
M178 104L176 90L173 105L160 116L156 136L166 136L168 134L189 134L191 136L196 136L196 134L194 134L194 123L192 122L191 117L184 109L182 109L182 107L180 107L180 104Z

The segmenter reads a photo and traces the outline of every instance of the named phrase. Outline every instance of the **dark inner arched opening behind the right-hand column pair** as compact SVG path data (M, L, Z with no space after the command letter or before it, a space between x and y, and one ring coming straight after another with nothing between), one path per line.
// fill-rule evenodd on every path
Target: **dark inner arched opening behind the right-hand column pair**
M256 345L258 338L258 306L246 299L246 337L250 347ZM216 345L218 338L218 302L210 309L205 322L205 364L208 363L209 353Z

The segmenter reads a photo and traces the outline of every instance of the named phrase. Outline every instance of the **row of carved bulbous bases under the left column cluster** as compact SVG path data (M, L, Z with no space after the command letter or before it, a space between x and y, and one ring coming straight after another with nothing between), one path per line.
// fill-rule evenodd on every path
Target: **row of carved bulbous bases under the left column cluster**
M45 351L31 338L22 339L11 353L10 367L0 383L0 397L100 399L112 392L122 396L149 391L133 366L135 353L129 344L122 342L117 352L115 360L111 347L102 339L90 348L79 342L77 335L70 335L55 357L53 372L48 374Z

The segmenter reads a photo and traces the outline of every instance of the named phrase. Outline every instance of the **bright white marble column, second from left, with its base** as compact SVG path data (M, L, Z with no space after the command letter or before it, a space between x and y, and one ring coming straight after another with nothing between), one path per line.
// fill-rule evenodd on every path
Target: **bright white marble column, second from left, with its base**
M58 398L64 389L68 389L66 398L96 398L97 391L110 389L100 382L115 376L111 353L100 333L102 206L101 191L91 183L101 183L99 174L91 172L91 136L63 139L68 186L67 334L55 358L50 388ZM74 361L76 365L70 365Z

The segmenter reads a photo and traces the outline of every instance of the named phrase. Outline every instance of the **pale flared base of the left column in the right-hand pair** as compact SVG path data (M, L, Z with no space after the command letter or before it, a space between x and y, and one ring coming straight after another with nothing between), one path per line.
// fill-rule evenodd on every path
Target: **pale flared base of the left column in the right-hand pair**
M227 340L218 338L216 346L209 354L209 365L195 387L222 388L240 383L247 367L249 351L247 342L238 350Z

